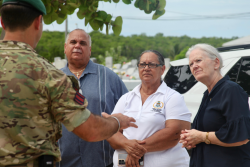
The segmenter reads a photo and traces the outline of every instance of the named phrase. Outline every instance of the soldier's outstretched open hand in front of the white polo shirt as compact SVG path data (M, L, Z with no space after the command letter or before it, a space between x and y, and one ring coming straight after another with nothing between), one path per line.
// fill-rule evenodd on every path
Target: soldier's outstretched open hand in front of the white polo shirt
M112 116L116 117L120 122L120 130L126 129L128 127L138 128L138 126L133 123L133 122L136 122L134 118L125 116L125 115L123 115L121 113L109 115L109 114L103 112L102 116L104 118L109 118L109 117L112 117Z

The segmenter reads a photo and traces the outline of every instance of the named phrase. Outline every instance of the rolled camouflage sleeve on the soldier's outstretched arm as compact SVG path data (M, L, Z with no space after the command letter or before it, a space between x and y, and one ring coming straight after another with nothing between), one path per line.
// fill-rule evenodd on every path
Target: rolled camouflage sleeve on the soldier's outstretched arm
M62 122L68 131L74 130L90 116L90 111L86 108L87 100L77 101L78 92L73 85L75 88L78 87L77 80L67 77L57 69L48 73L45 85L51 102L51 111L56 121Z

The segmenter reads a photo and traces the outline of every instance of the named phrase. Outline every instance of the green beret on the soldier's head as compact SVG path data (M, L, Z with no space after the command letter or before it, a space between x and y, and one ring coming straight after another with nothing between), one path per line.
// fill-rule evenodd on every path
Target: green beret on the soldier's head
M46 15L46 8L41 0L3 0L2 6L10 4L34 8Z

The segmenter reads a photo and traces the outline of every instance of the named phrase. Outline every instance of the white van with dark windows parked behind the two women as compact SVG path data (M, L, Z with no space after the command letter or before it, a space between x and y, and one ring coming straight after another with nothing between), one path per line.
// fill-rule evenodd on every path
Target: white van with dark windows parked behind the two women
M228 75L231 81L238 83L250 96L250 44L217 49L223 60L222 76ZM192 112L193 122L207 87L195 80L187 58L172 61L170 64L164 81L184 96L186 105Z

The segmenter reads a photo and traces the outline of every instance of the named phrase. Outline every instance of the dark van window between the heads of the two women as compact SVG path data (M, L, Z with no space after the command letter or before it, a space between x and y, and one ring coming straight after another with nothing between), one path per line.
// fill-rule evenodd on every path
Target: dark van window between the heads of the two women
M186 93L197 83L188 65L171 66L164 77L164 82L181 94Z

